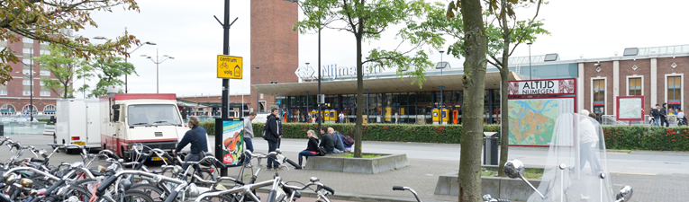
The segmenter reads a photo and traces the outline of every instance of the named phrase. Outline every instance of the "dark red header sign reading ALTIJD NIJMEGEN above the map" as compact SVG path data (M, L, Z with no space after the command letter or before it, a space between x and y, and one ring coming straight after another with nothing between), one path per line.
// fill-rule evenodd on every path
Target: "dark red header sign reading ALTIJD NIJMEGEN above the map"
M510 82L510 95L555 95L575 94L576 81L574 78L546 79Z

